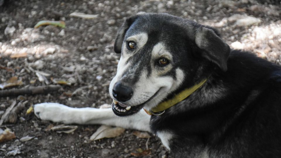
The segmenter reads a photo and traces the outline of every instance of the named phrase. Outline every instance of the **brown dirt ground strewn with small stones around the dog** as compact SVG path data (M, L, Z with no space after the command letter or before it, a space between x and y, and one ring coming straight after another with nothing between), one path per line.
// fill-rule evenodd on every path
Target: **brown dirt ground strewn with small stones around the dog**
M268 2L274 2L268 4ZM96 107L111 104L108 86L116 73L119 54L113 51L114 38L125 17L139 11L166 12L217 28L222 38L236 49L244 49L281 65L281 9L279 1L256 0L10 0L0 6L0 83L17 76L23 84L16 88L54 84L67 80L56 92L21 97L2 97L0 111L13 101L27 100L17 122L4 123L16 138L0 143L0 157L134 157L139 148L151 149L146 157L169 157L169 152L153 134L137 138L125 130L116 138L90 141L99 125L78 125L70 134L45 129L53 124L26 114L30 105L58 102L71 107ZM73 12L95 14L84 19ZM34 29L40 20L62 20L66 28L46 26ZM21 57L20 57L21 56ZM48 73L40 81L36 71ZM8 87L7 89L11 89ZM75 92L75 94L73 94ZM73 94L73 95L71 95ZM24 136L34 137L21 142ZM14 152L11 152L14 151ZM17 151L17 152L15 152Z

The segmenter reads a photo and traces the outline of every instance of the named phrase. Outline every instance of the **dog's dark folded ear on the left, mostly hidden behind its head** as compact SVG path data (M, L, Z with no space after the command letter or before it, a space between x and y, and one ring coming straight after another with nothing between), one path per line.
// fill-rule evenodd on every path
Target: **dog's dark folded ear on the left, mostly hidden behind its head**
M130 18L126 18L125 22L121 26L121 28L117 32L117 37L114 43L114 51L115 53L121 53L122 44L124 41L125 34L133 22L136 20L137 16L132 16Z

